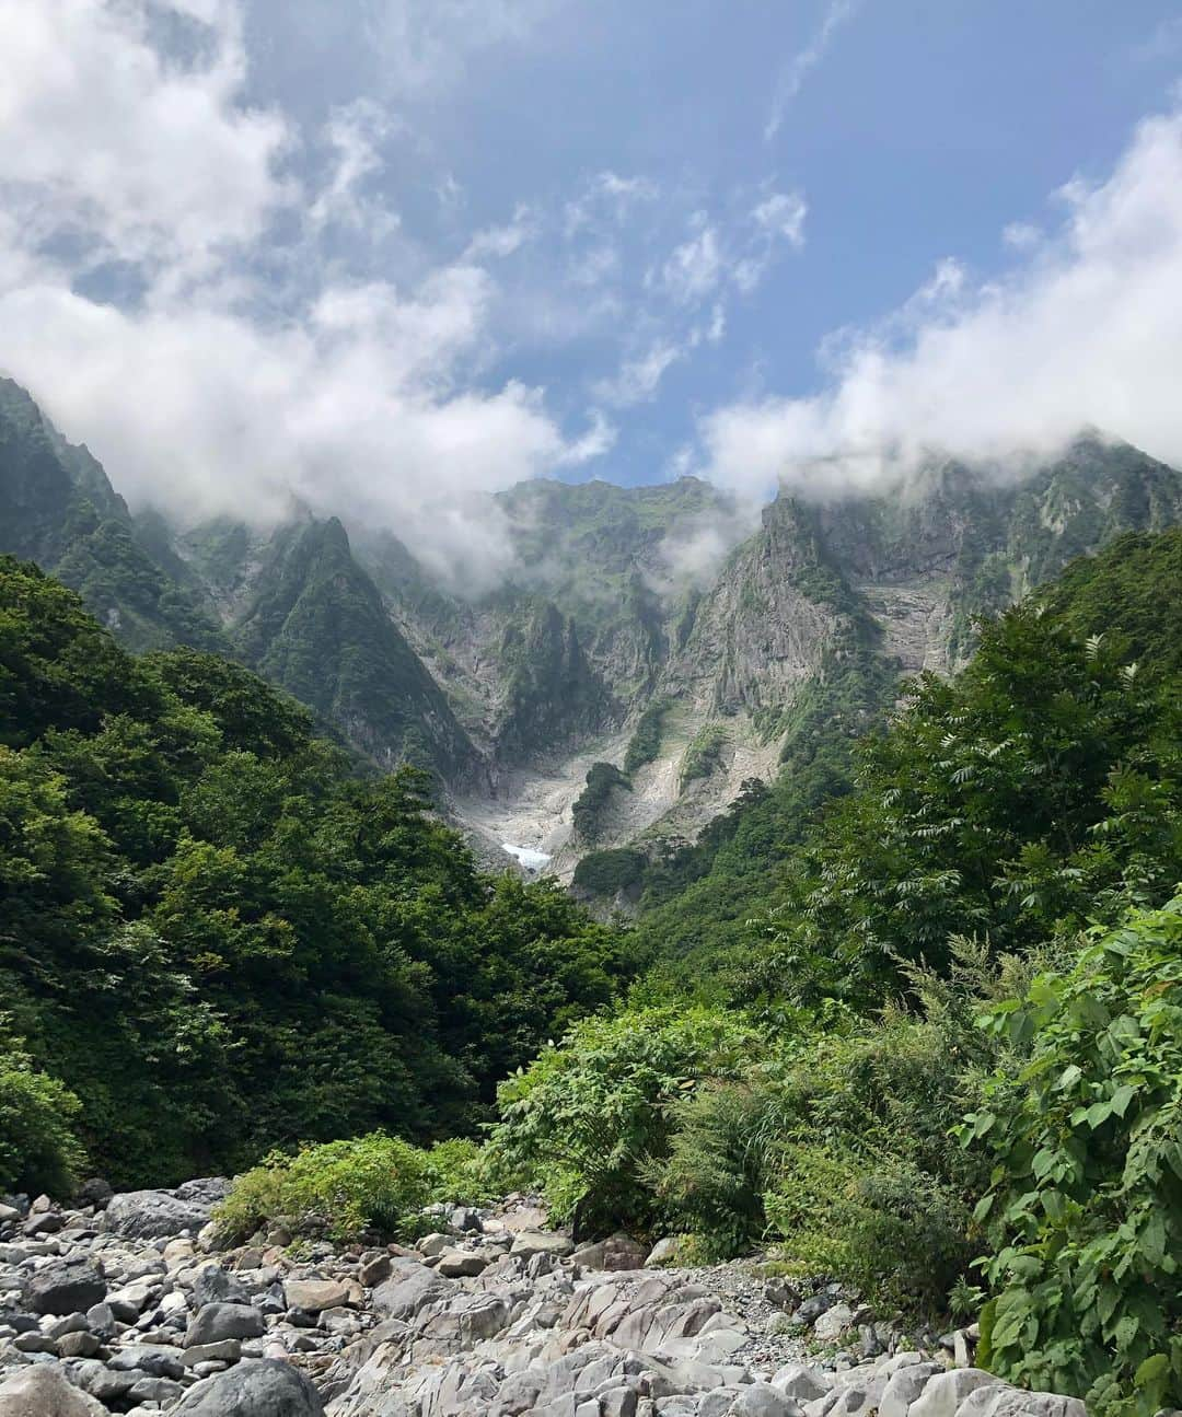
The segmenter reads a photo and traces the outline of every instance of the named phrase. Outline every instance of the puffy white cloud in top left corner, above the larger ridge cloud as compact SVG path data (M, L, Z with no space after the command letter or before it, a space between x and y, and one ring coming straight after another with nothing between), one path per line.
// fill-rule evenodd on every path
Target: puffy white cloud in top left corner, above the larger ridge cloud
M286 123L235 102L237 7L162 7L208 23L203 61L166 61L146 3L0 0L0 183L26 242L69 232L94 264L190 276L257 239L289 196L278 163Z

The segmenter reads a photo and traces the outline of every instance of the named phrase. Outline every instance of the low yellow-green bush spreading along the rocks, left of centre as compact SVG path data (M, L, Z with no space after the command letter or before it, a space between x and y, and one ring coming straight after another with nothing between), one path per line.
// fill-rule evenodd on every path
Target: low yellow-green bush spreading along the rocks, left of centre
M418 1213L452 1192L471 1163L471 1142L445 1144L438 1153L397 1136L370 1132L353 1141L303 1146L295 1155L272 1152L238 1176L217 1212L228 1237L244 1240L282 1221L298 1230L351 1240L366 1230L408 1237Z

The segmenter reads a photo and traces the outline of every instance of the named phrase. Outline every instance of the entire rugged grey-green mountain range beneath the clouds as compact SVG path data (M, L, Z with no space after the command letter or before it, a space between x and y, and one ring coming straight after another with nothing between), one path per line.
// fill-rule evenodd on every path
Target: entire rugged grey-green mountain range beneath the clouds
M132 517L86 449L0 385L0 550L61 575L132 648L220 648L377 767L435 768L493 857L512 843L570 877L592 847L626 849L641 894L653 873L662 890L709 874L694 843L709 857L758 785L782 835L900 676L951 672L975 615L1182 520L1182 478L1087 432L1020 468L934 458L887 493L785 490L755 526L694 478L536 480L485 512L509 571L480 594L390 531L302 509L269 531Z

